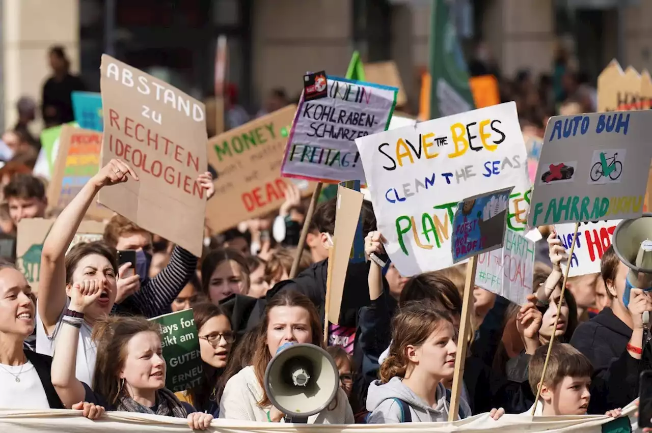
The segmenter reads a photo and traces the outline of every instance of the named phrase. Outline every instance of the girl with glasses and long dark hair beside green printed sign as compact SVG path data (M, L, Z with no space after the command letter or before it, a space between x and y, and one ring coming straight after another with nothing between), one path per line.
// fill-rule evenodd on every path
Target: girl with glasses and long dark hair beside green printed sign
M217 418L220 412L218 380L229 359L235 333L222 307L214 303L196 303L192 305L192 313L200 339L203 376L198 384L176 393L176 396L180 401L192 404L198 412L210 413Z

